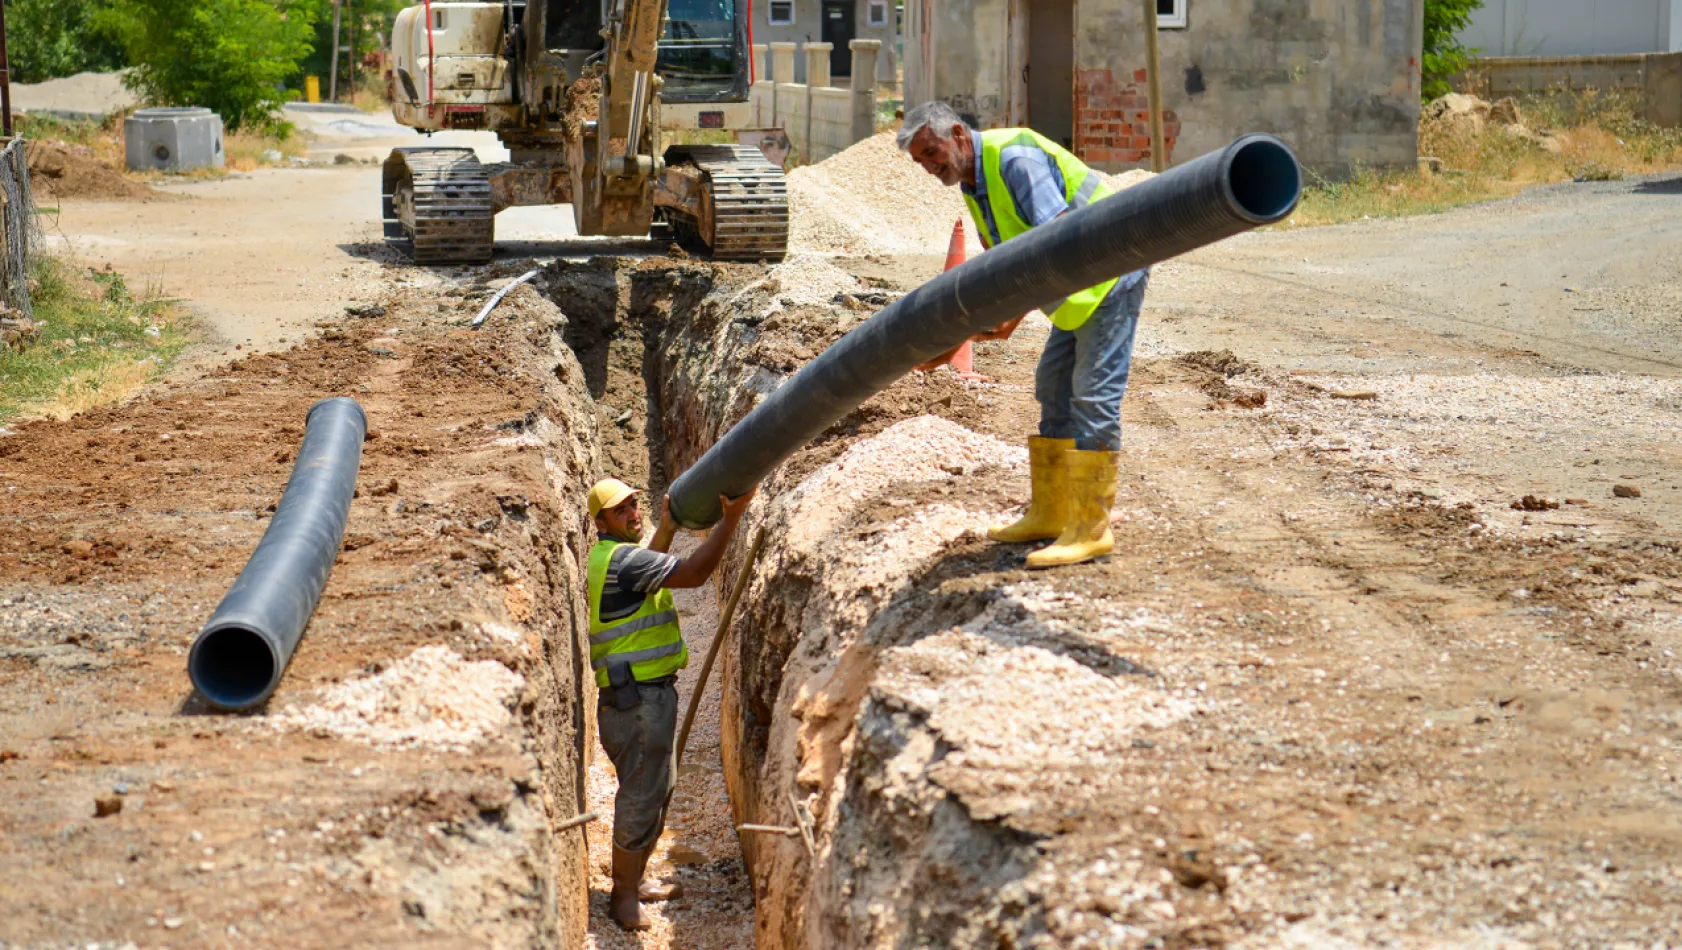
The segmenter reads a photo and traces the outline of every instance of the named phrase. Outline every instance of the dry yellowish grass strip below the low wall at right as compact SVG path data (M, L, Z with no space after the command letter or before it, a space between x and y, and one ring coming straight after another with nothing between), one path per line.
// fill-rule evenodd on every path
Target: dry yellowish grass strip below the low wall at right
M1637 118L1632 96L1554 91L1519 108L1519 126L1423 119L1420 155L1440 160L1441 172L1421 163L1418 170L1356 170L1344 182L1314 182L1285 227L1438 214L1532 185L1682 170L1682 129Z

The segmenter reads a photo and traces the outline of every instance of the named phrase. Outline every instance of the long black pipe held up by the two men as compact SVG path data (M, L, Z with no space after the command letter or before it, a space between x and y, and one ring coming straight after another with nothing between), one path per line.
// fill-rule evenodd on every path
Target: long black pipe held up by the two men
M853 328L725 432L671 484L673 515L686 528L713 525L720 494L759 484L918 363L1039 304L1283 220L1300 197L1290 148L1248 135L940 274Z

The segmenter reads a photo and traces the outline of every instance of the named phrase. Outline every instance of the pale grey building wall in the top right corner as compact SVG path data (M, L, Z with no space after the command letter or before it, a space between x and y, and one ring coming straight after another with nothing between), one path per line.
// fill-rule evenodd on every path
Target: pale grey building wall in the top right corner
M1682 0L1484 0L1460 42L1484 55L1682 52Z

